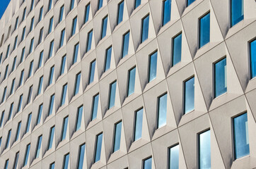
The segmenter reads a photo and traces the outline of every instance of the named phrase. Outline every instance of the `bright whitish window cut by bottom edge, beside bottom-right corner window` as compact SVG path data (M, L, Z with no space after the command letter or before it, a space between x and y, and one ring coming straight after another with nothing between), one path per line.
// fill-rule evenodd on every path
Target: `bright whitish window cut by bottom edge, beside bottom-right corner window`
M211 132L199 134L199 169L211 168Z

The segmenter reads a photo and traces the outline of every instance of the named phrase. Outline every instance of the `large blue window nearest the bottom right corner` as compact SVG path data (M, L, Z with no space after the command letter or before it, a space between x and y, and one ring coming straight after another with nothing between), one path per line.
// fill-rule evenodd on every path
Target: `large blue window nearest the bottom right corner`
M233 118L233 142L235 159L250 154L247 113Z

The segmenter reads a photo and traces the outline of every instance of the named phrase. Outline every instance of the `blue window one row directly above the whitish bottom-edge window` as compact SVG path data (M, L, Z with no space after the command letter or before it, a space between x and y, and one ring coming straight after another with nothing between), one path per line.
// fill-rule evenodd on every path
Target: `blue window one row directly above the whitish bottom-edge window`
M184 111L188 113L194 110L194 77L185 82Z

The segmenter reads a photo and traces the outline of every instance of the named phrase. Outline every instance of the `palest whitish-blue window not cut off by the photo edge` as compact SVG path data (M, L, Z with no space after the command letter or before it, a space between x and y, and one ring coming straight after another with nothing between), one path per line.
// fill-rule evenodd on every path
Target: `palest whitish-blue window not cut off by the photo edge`
M167 94L158 97L158 128L166 125Z

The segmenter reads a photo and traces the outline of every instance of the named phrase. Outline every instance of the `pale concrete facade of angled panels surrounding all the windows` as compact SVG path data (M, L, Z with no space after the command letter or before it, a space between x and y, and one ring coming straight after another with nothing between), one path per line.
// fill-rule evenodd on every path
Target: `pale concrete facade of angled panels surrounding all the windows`
M256 79L250 78L249 42L256 37L256 1L244 0L244 19L231 27L230 0L195 0L187 6L187 0L172 0L171 18L162 26L163 1L141 0L134 9L133 0L103 0L98 10L97 0L11 0L0 20L0 101L6 87L6 99L0 103L4 113L0 127L0 168L8 159L13 168L19 152L18 168L45 168L51 163L63 168L64 155L69 153L69 168L77 168L81 144L86 144L83 168L143 168L143 160L152 157L152 168L168 168L168 149L179 144L179 168L197 169L198 135L211 132L211 168L256 168ZM118 4L124 1L123 20L117 25ZM86 6L90 3L88 22L84 23ZM59 23L60 8L64 5L63 19ZM42 20L40 8L43 8ZM25 20L23 11L26 8ZM199 18L210 13L210 42L199 49ZM149 38L141 43L141 19L149 14ZM101 39L102 20L107 16L106 36ZM16 18L18 27L15 29ZM34 17L33 30L30 22ZM52 32L48 34L50 18ZM72 22L77 17L75 34ZM22 40L25 27L25 39ZM43 30L42 42L40 30ZM65 29L64 44L60 45L61 32ZM86 51L88 32L93 30L91 50ZM129 31L129 49L122 58L123 35ZM172 66L173 37L182 33L181 62ZM17 47L13 48L16 36ZM34 38L30 53L30 42ZM53 54L50 43L54 40ZM76 63L74 46L79 43ZM8 45L9 54L6 57ZM112 46L110 69L105 71L106 49ZM25 48L24 60L21 61ZM40 53L44 52L39 68ZM149 82L149 56L157 51L156 79ZM64 73L62 58L66 56ZM16 66L12 70L16 57ZM214 98L214 63L226 58L227 92ZM33 61L29 77L30 62ZM91 62L96 61L95 76L89 84ZM4 79L6 66L7 77ZM50 68L54 66L52 84ZM127 96L129 70L136 67L134 94ZM20 83L21 72L24 71ZM74 96L76 75L81 73L78 94ZM42 92L37 94L40 77ZM184 115L184 82L194 77L194 110ZM14 92L11 86L15 78ZM110 84L117 82L115 106L108 108ZM62 87L67 84L66 100L62 102ZM28 102L29 89L33 95ZM167 94L166 125L157 127L158 97ZM19 98L23 94L21 111ZM50 98L54 94L52 115L48 115ZM91 121L93 96L99 94L98 113ZM8 114L13 111L11 120ZM42 117L37 124L39 106L43 104ZM83 106L81 128L76 131L78 108ZM141 139L134 142L135 113L143 108ZM235 159L232 119L247 112L250 155ZM29 131L26 133L28 115L32 113ZM62 140L64 118L69 116L66 139ZM16 141L18 123L21 133ZM112 153L115 124L122 121L120 150ZM52 149L48 150L51 127L55 127ZM5 149L7 134L11 130L10 145ZM98 134L103 133L100 161L94 163ZM37 138L42 135L39 158L35 158ZM26 146L30 144L28 165L23 167Z

